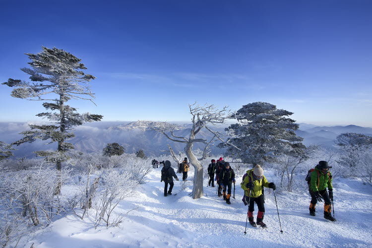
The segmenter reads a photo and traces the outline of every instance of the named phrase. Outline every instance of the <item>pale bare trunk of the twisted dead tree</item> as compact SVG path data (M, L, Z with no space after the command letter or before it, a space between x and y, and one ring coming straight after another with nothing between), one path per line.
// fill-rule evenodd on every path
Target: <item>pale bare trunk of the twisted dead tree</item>
M192 153L192 146L193 142L191 142L192 139L194 139L195 135L193 134L193 131L191 131L190 138L188 139L189 142L187 142L185 147L186 156L188 157L190 164L194 168L194 185L192 188L192 198L198 199L201 196L204 195L203 192L203 166L200 164L200 162L197 160L195 155Z

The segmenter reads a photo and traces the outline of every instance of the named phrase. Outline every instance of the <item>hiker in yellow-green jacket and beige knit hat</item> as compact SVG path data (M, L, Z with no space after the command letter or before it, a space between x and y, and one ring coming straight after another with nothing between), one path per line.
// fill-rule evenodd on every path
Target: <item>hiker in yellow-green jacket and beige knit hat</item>
M263 187L276 189L274 183L267 182L266 177L263 175L263 170L260 165L256 165L253 169L248 170L244 175L241 187L244 189L245 198L249 199L248 220L252 226L259 225L266 228L266 224L262 222L265 214L265 199L263 195ZM257 222L253 221L254 202L257 204Z

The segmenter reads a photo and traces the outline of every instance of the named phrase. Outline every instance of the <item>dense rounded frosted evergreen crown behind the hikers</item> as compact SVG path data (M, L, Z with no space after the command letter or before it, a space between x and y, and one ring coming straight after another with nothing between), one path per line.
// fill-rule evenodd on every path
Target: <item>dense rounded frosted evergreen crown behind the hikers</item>
M302 144L303 138L294 132L299 125L288 118L292 114L277 109L270 103L255 102L244 105L231 115L238 123L227 128L232 135L228 141L241 150L229 146L226 156L238 157L244 163L256 165L282 154L294 157L302 154L305 145ZM219 146L226 147L226 144L220 143Z

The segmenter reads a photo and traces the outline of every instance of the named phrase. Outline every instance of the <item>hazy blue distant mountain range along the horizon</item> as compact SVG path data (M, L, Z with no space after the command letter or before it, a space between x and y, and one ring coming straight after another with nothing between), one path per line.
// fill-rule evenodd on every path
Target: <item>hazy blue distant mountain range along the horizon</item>
M182 129L176 132L179 136L187 136L190 132L190 124L178 124ZM18 134L27 130L27 123L0 123L0 141L11 143L22 137ZM224 127L217 128L223 131ZM312 124L300 124L296 134L304 138L304 144L318 144L327 148L334 148L334 139L337 135L345 132L363 133L372 136L371 127L357 125L316 126ZM75 137L69 142L75 148L83 152L101 152L107 143L117 142L125 147L126 153L134 153L143 149L147 156L160 155L168 152L167 144L170 144L175 152L184 151L184 143L173 142L162 133L146 129L146 122L97 122L84 124L77 127ZM200 131L198 137L210 139L209 131ZM33 151L55 149L56 144L45 145L45 142L35 141L22 144L14 151L17 157L33 157ZM202 144L195 144L194 149L203 148ZM212 146L213 154L223 154L224 150Z

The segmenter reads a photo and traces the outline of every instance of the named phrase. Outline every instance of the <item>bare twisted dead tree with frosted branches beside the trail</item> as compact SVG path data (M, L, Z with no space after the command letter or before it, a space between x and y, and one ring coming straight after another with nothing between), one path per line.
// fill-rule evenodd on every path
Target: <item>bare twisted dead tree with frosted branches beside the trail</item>
M196 103L189 105L189 110L191 114L191 123L192 127L190 128L189 136L178 136L175 131L179 130L180 127L169 124L166 122L152 123L150 128L157 130L163 133L167 138L175 142L181 142L185 144L185 153L189 159L190 164L194 168L194 182L192 188L192 198L197 199L203 196L203 166L200 163L203 159L208 156L208 148L215 140L224 141L224 134L214 131L210 128L210 125L224 124L229 111L227 107L224 107L222 110L218 110L214 105L204 105L199 106ZM209 125L209 126L208 126ZM213 137L210 141L207 141L203 138L197 138L196 135L201 129L206 129L213 134ZM195 143L205 144L203 154L200 158L197 158L192 150L192 147ZM230 145L228 142L225 142L226 145ZM238 147L235 147L239 150ZM173 150L171 150L172 157L177 158ZM181 161L179 161L181 162Z

